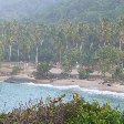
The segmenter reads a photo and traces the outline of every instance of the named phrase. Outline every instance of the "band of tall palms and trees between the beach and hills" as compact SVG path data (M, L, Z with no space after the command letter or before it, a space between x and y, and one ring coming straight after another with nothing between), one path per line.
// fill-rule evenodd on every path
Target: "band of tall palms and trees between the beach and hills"
M115 66L124 68L124 20L102 19L95 25L1 21L0 60L59 62L68 75L76 65L114 75Z

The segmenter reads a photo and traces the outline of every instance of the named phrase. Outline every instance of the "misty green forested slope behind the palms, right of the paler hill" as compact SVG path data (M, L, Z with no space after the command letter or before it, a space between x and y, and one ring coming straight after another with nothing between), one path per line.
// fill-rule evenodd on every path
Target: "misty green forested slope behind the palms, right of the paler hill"
M61 0L40 14L44 21L62 20L96 22L101 18L124 17L123 0ZM37 18L38 19L38 18ZM41 19L41 20L42 20Z

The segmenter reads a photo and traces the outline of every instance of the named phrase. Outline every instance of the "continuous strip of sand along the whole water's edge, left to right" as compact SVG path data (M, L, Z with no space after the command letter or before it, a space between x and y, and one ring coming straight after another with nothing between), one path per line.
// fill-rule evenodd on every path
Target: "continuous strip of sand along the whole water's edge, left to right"
M82 89L87 89L87 90L99 90L99 91L110 91L110 92L116 92L116 93L124 93L124 85L121 85L120 83L105 83L103 84L103 80L93 80L93 81L87 81L87 80L74 80L74 79L70 79L70 80L34 80L33 78L30 78L25 74L20 74L20 75L16 75L16 76L0 76L0 81L4 82L6 80L8 80L9 83L9 79L12 79L12 81L10 81L10 83L20 83L21 81L25 81L28 83L31 83L31 81L33 81L32 83L34 84L50 84L53 86L74 86L74 85L79 85Z

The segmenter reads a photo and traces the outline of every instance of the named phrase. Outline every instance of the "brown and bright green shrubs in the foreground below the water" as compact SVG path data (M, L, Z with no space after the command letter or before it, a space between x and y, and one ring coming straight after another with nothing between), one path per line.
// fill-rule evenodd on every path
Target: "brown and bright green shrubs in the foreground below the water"
M124 124L124 114L108 104L85 102L78 94L70 103L58 97L27 108L0 115L0 124Z

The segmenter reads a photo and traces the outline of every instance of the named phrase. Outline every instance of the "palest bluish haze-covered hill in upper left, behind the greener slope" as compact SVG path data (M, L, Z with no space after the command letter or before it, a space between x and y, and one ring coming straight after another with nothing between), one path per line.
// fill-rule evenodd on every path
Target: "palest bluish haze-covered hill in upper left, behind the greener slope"
M22 19L41 13L55 0L0 0L0 19Z

